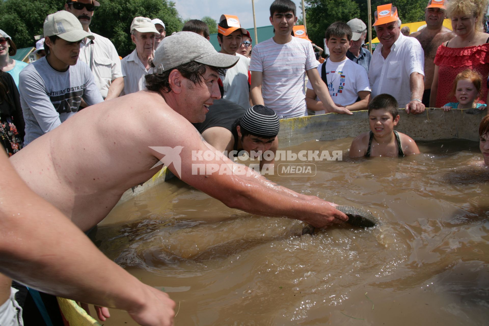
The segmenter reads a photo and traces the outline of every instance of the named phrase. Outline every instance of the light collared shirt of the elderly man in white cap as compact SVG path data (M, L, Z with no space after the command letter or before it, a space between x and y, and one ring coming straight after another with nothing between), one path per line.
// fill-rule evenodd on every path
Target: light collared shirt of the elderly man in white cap
M146 70L143 63L137 56L136 49L121 60L122 73L124 74L125 95L138 92L146 88L146 79L148 74L153 73L153 68ZM122 94L121 94L122 95Z

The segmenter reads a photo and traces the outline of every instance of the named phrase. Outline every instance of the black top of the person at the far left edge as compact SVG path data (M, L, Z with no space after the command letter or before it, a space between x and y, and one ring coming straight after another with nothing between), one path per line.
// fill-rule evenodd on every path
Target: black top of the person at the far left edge
M22 114L21 99L19 96L19 90L15 85L14 79L9 73L0 70L0 83L5 86L8 91L6 98L3 98L0 92L0 119L5 122L7 118L12 118L17 131L21 138L25 135L25 122Z

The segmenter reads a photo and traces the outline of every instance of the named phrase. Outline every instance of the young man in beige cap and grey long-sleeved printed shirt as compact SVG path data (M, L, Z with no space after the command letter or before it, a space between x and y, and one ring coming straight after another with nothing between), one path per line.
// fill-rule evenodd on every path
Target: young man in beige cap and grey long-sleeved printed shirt
M78 60L80 42L93 36L67 11L44 21L47 54L19 75L19 93L25 120L24 144L61 125L80 109L103 101L90 68Z

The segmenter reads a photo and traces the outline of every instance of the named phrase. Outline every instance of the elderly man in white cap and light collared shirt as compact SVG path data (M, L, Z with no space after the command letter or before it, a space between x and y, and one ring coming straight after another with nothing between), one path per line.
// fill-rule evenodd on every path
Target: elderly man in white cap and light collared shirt
M121 60L124 74L124 94L143 90L144 77L153 73L150 58L153 57L155 36L158 33L155 24L146 17L136 17L131 23L131 40L136 45L131 54Z

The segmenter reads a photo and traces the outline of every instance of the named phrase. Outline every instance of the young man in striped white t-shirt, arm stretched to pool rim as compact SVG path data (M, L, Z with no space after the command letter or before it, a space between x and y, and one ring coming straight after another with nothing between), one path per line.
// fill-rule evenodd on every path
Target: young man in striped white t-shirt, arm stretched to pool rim
M273 38L257 44L251 54L251 101L275 110L281 118L307 115L304 82L306 73L328 112L352 114L333 103L328 88L317 73L319 64L311 42L292 37L295 3L275 0L270 6Z

